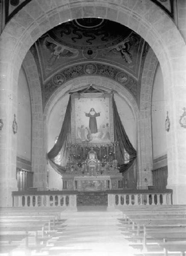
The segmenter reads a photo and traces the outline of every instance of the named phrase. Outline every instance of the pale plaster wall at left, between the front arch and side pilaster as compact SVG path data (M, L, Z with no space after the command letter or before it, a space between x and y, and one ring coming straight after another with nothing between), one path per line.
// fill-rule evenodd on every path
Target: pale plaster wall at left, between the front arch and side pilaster
M31 102L23 67L20 69L17 88L17 157L31 161Z

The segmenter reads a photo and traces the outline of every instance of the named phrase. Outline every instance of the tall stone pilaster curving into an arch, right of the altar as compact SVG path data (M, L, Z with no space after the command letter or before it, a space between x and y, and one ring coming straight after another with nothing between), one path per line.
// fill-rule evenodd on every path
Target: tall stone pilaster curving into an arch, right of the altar
M149 49L145 58L142 72L140 92L140 150L142 154L141 173L139 173L140 187L143 188L144 179L148 185L153 185L152 180L152 132L151 132L151 96L154 75L158 60L152 49Z

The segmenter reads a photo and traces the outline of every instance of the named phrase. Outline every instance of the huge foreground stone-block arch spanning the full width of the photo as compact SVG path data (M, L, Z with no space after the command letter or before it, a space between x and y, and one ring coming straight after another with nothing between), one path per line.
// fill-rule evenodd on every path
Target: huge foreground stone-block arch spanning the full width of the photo
M99 2L82 0L81 2L70 3L55 0L40 2L32 0L7 23L0 42L2 52L0 77L1 89L3 89L0 99L2 106L7 105L8 109L8 111L3 111L2 114L6 128L4 128L3 132L4 141L6 141L4 148L6 150L0 157L1 168L4 170L6 166L5 173L9 173L8 170L10 169L15 169L15 156L11 161L8 160L8 156L12 153L12 146L16 145L9 120L10 116L17 112L15 107L17 101L17 79L26 52L42 34L52 27L67 20L82 17L101 17L128 26L141 35L154 50L163 72L165 94L169 95L166 109L170 113L172 129L167 135L168 168L172 174L169 177L169 182L175 184L178 173L184 171L184 168L181 169L178 163L178 152L186 152L186 145L183 144L186 134L181 130L182 136L178 136L177 132L177 128L179 128L177 116L182 111L186 96L184 74L186 61L185 57L182 56L182 53L186 52L186 45L171 18L148 0L121 1L119 3L111 0L107 2L105 0L100 0ZM7 99L9 93L12 93L15 97L12 101L5 102L4 99ZM8 138L10 139L8 140ZM183 163L183 166L185 164ZM8 184L10 180L14 179L13 177L12 171L12 175L5 175L3 179ZM182 180L183 178L180 179L180 182L183 184ZM14 186L13 183L12 187ZM12 188L9 189L10 192L11 190ZM10 195L7 200L10 201Z

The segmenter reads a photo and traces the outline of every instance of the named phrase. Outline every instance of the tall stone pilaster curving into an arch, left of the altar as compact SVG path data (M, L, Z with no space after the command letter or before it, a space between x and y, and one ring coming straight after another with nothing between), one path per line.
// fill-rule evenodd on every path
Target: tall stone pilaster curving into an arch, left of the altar
M32 171L34 172L33 186L44 187L46 184L43 172L43 103L41 82L35 59L30 51L23 60L23 68L29 84L32 106Z

